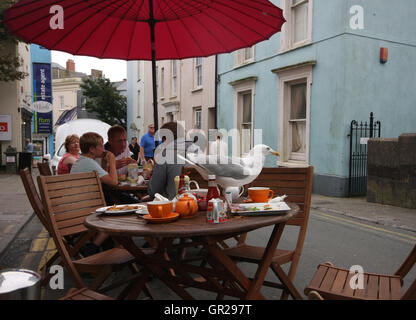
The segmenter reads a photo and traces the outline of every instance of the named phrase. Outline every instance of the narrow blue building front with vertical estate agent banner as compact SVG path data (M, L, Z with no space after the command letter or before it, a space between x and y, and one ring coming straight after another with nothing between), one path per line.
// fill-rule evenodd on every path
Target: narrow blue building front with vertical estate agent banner
M50 103L51 110L36 112L32 119L32 140L35 146L34 159L42 160L45 154L54 154L54 132L52 112L52 57L51 52L39 45L30 45L32 106L34 102ZM39 111L39 110L38 110Z

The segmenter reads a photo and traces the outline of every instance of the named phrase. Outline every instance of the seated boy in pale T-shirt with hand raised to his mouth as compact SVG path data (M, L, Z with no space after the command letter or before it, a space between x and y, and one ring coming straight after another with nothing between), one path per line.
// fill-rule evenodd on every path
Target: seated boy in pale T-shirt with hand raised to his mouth
M108 172L94 161L95 158L101 157L104 152L103 138L95 132L84 133L79 139L79 145L82 154L79 159L71 167L71 173L97 171L102 183L109 185L117 185L118 177L116 171L116 160L111 152L106 153L106 161L108 163ZM108 235L98 233L93 242L87 243L84 248L86 256L96 254L100 251L100 246L107 240ZM111 240L108 240L111 246Z

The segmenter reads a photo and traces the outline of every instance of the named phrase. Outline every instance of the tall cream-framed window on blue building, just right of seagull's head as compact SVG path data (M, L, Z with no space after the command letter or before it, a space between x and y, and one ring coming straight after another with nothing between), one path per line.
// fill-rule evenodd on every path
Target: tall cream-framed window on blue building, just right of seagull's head
M312 65L277 72L279 77L279 165L309 163Z

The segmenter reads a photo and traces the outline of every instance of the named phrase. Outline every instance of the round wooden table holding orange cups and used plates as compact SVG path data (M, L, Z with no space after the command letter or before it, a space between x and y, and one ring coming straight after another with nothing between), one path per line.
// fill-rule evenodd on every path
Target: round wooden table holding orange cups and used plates
M150 224L135 215L129 216L96 216L90 215L85 225L93 230L111 234L123 245L140 264L143 275L131 285L128 298L136 299L143 289L148 277L153 274L183 299L193 299L185 290L195 287L217 292L241 299L265 299L260 290L273 252L276 250L287 220L299 211L296 204L289 204L291 210L280 216L232 217L220 224L206 223L205 212L198 212L192 219L179 219L165 224ZM242 233L274 225L266 246L263 262L259 265L253 279L249 279L223 251L219 242ZM153 254L146 255L138 248L132 237L151 237L156 239L157 247ZM165 253L177 249L175 239L191 239L187 245L201 245L206 264L195 265L185 261L168 260ZM173 275L172 275L172 272ZM195 275L199 275L195 277ZM284 275L282 284L295 298L301 298L292 282Z

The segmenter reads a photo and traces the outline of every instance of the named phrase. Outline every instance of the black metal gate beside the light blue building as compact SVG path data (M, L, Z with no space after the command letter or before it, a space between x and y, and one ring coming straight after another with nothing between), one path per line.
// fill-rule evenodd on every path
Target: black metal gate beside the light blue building
M381 122L374 122L370 113L370 123L353 120L350 128L350 175L349 196L364 196L367 193L367 142L369 138L380 137Z

